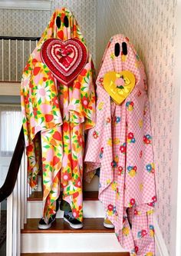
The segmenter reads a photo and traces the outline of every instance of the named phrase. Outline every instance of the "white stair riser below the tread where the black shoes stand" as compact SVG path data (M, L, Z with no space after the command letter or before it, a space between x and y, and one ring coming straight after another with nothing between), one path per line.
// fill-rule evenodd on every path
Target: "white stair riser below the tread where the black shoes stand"
M116 235L84 234L21 234L21 253L41 252L122 252Z

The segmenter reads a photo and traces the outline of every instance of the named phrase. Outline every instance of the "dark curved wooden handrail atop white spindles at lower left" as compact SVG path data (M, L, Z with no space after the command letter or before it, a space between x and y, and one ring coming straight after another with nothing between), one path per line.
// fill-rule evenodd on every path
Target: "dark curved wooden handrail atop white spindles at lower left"
M25 137L23 132L23 127L18 137L18 141L15 146L15 151L12 155L12 161L8 168L8 174L5 178L5 183L0 188L0 202L8 198L12 194L13 189L15 188L15 182L18 176L18 170L21 165L21 158L23 151L25 150Z

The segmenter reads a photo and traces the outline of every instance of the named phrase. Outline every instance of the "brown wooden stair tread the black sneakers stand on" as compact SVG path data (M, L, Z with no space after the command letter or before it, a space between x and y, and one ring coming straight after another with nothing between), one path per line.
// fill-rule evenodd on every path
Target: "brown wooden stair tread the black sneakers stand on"
M38 229L38 218L28 218L27 224L21 230L25 233L114 233L114 229L104 228L104 218L84 218L84 227L81 229L71 228L62 218L56 219L51 228L47 230Z

